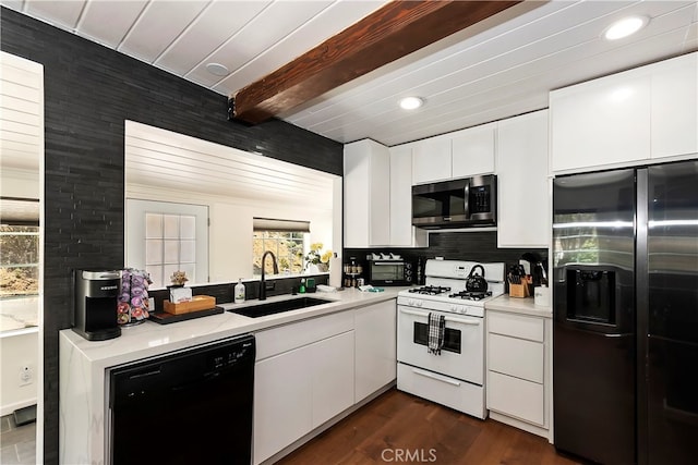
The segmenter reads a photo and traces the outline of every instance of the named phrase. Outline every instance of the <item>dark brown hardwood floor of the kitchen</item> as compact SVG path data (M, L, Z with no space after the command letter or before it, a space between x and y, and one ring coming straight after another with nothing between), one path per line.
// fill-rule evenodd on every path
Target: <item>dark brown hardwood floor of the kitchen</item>
M484 421L396 389L278 464L576 464L544 438Z

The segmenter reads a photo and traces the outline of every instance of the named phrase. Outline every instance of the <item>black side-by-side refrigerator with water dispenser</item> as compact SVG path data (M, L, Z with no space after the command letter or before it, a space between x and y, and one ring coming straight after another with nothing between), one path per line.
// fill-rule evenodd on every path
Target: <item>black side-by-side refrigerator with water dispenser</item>
M553 180L555 448L698 460L698 161Z

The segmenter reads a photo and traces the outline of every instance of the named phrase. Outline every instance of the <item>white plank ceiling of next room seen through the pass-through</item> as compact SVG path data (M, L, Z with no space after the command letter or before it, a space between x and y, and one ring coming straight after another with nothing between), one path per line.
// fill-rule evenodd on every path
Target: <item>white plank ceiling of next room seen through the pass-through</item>
M208 199L302 205L332 211L332 174L194 137L125 122L127 196L157 193ZM194 201L195 203L195 201Z

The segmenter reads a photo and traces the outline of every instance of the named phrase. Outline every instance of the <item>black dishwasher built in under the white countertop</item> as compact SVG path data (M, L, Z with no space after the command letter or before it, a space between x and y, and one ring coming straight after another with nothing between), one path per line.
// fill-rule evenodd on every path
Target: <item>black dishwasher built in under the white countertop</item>
M110 369L111 464L245 464L252 454L254 335Z

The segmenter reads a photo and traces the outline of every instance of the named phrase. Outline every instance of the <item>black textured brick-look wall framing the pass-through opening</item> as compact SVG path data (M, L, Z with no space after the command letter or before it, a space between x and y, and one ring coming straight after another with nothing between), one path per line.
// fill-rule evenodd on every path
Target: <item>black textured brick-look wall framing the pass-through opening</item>
M3 51L44 65L44 457L57 464L59 331L71 270L123 267L124 120L342 174L342 146L282 121L227 121L227 98L15 11Z

